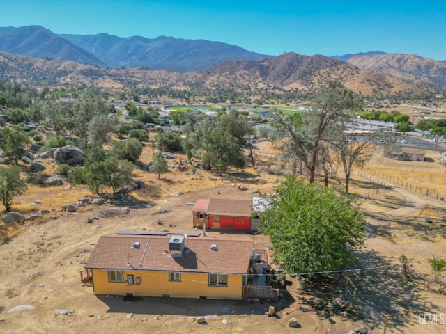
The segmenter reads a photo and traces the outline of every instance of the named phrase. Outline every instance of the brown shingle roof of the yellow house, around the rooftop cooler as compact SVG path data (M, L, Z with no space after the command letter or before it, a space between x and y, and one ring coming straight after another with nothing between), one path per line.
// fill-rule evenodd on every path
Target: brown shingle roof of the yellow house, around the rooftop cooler
M247 236L187 237L188 251L171 257L170 235L110 234L100 237L85 264L91 269L192 271L203 273L246 273L254 241ZM140 248L132 248L139 242ZM210 250L216 244L217 251ZM141 267L139 267L141 266Z

